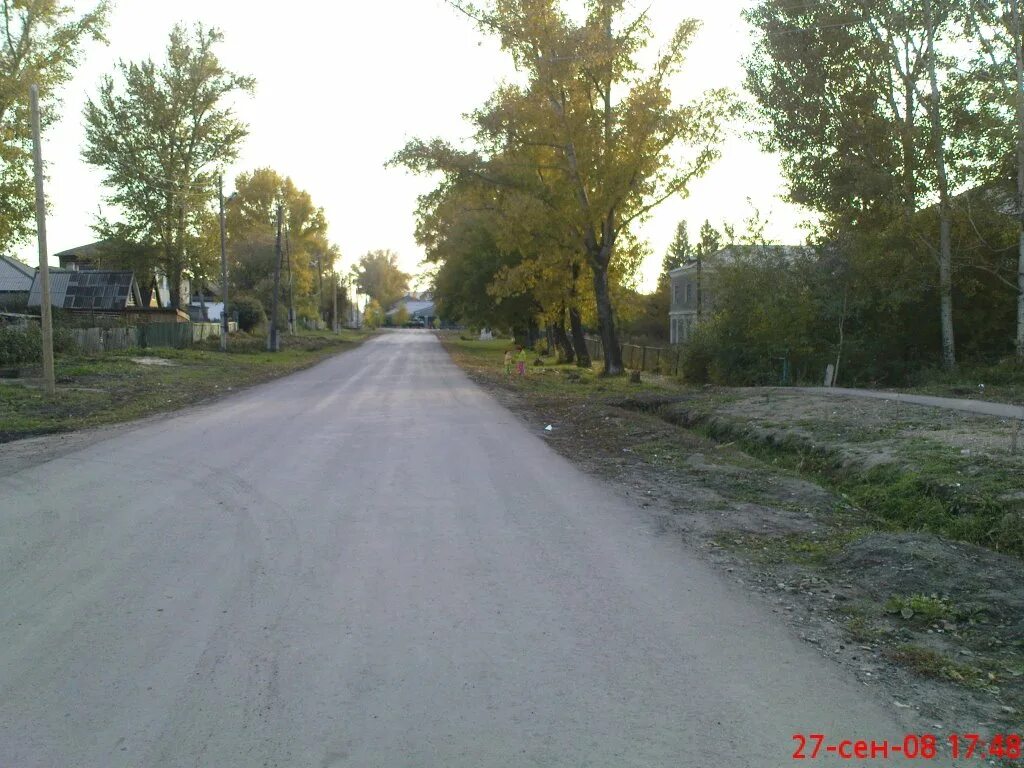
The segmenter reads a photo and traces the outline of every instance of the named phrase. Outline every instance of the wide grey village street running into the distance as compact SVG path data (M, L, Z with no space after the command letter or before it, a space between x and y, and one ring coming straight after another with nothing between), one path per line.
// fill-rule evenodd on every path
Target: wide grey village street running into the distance
M543 426L392 333L0 476L0 766L778 768L798 733L902 741Z

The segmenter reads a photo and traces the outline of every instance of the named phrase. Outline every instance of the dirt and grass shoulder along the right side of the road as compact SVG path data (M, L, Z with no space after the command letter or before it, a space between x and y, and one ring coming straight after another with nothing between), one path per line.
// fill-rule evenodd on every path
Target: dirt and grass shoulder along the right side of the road
M791 461L810 456L802 453L806 445L797 433L803 429L809 439L812 421L822 421L802 412L807 402L798 408L801 400L845 411L845 420L831 410L824 418L837 442L847 428L893 429L894 416L885 410L892 403L837 406L791 393L792 403L770 397L752 421L743 398L763 401L764 393L681 393L653 380L624 395L621 381L551 366L531 368L520 381L501 375L500 353L492 362L465 343L460 348L449 339L446 346L540 439L678 531L727 579L766 601L804 642L892 708L909 713L923 730L1019 730L1019 559L925 529L899 529ZM979 454L1010 461L1008 427L998 420L902 408L900 418L910 419L915 434L972 441L956 452L966 451L966 461ZM680 418L680 412L690 416ZM764 426L766 421L775 426ZM744 436L752 427L762 430L760 447L758 439ZM898 443L898 435L882 436ZM872 442L879 436L869 437L851 438L851 451L882 461ZM783 443L800 450L762 450Z

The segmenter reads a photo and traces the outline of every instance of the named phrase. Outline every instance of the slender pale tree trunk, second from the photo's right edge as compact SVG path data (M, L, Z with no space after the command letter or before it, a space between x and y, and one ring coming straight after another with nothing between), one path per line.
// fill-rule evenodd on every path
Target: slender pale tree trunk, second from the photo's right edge
M947 371L956 368L956 343L953 336L952 296L952 215L949 205L949 181L946 177L946 148L942 132L942 105L935 51L935 25L932 0L925 0L925 24L928 26L928 70L932 85L929 113L932 119L932 140L935 144L935 170L939 180L939 298L942 323L942 366Z

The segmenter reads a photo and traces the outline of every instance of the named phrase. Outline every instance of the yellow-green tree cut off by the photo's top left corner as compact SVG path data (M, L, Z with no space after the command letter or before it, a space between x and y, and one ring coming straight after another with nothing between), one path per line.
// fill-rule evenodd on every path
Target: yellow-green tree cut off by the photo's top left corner
M105 0L81 15L55 0L0 0L0 243L24 241L34 223L29 86L39 86L45 130L85 43L105 42L108 10Z

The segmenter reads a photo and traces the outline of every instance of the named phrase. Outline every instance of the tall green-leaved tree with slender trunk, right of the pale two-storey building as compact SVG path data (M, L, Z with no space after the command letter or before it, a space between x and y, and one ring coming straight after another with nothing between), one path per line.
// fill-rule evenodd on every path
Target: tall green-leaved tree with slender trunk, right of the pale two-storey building
M830 238L889 230L928 244L938 265L942 358L955 364L950 193L966 169L950 155L962 105L945 84L964 43L961 0L762 0L748 87L782 156L791 198L821 213ZM923 87L923 84L927 84ZM921 201L937 231L919 231ZM938 237L936 237L938 236Z

